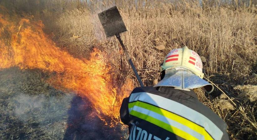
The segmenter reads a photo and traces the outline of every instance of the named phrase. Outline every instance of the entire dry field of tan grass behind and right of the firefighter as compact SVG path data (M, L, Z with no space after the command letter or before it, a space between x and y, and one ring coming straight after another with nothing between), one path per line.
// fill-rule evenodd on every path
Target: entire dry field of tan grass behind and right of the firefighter
M105 39L97 13L117 5L128 32L121 35L145 86L159 79L159 64L172 49L188 46L204 62L211 94L198 90L203 104L228 124L231 139L257 139L257 3L219 7L197 2L68 0L3 1L8 14L42 20L44 32L76 58L93 48L108 56L115 80L139 86L115 37ZM236 6L238 4L238 6ZM256 5L256 6L255 6ZM1 27L1 25L0 25ZM0 54L1 55L1 54Z

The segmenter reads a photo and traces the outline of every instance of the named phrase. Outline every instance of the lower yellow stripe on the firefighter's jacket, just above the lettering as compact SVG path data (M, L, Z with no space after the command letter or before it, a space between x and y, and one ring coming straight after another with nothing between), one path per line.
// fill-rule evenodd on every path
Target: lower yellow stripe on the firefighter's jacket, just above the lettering
M191 136L190 134L188 134L188 133L186 133L186 132L184 132L184 131L182 131L182 130L180 130L180 129L172 126L172 125L166 124L166 123L164 123L164 122L162 122L162 121L160 121L158 119L155 119L155 118L153 118L151 116L148 116L146 114L142 114L142 113L137 112L135 110L131 110L130 114L134 115L134 116L136 116L136 117L138 117L140 119L144 119L144 120L146 120L146 121L148 121L148 122L150 122L152 124L155 124L155 125L157 125L157 126L159 126L161 128L164 128L165 130L167 130L167 131L169 131L171 133L174 133L174 134L178 135L181 138L189 139L189 140L197 140L197 138Z

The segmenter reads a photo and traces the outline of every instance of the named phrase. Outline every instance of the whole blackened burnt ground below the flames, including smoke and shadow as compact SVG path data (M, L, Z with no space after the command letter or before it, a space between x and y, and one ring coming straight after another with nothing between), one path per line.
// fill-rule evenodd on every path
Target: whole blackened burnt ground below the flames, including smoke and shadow
M56 90L41 70L0 70L0 139L121 139L87 99Z

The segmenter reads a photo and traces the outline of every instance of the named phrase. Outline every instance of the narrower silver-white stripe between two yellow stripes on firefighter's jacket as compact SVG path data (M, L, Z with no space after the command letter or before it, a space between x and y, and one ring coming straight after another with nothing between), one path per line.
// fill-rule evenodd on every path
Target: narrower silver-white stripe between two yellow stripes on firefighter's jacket
M166 118L163 115L155 113L155 112L153 112L151 110L147 110L147 109L144 109L144 108L136 106L136 105L133 107L132 110L135 110L137 112L140 112L140 113L148 115L148 116L151 116L151 117L153 117L155 119L158 119L159 121L164 122L165 124L169 124L171 126L174 126L174 127L178 128L178 129L180 129L180 130L182 130L182 131L192 135L193 137L195 137L197 139L204 139L203 135L195 132L191 128L189 128L189 127L187 127L187 126L185 126L183 124L180 124L180 123L178 123L178 122L176 122L176 121L174 121L172 119Z

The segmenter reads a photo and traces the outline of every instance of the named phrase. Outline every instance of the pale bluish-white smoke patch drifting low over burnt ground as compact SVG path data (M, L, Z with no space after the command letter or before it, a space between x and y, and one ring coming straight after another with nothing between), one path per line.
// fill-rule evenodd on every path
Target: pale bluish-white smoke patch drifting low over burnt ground
M62 97L46 97L44 94L35 96L19 94L13 96L10 102L15 116L23 123L42 120L38 121L38 124L45 125L48 121L50 124L68 115L70 102L74 96L67 94Z

